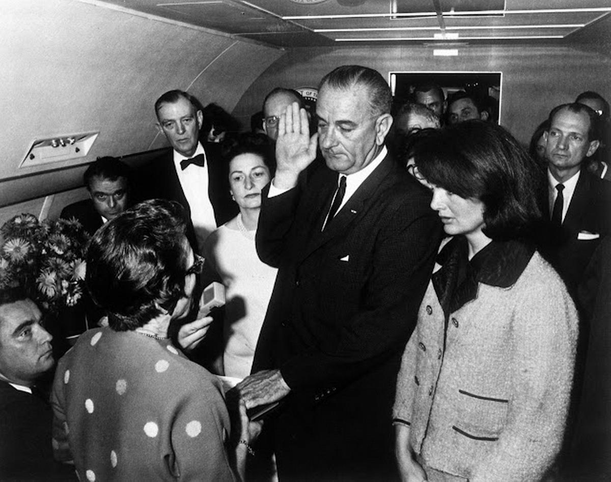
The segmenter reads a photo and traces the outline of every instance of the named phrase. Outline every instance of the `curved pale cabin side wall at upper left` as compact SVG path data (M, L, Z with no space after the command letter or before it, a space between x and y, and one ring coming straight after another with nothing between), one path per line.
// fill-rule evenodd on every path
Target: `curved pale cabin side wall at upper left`
M74 188L83 169L18 183L15 177L165 145L153 103L167 90L190 87L203 103L217 101L231 111L282 54L100 3L3 0L0 82L9 95L0 119L0 205ZM250 58L257 66L244 68ZM86 158L18 169L35 139L98 130ZM10 186L2 183L7 179Z

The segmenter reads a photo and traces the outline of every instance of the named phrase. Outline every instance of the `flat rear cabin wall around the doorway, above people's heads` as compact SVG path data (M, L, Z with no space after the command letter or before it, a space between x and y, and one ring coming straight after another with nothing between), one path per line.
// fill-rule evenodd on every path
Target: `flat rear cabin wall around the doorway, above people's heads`
M249 117L274 87L316 86L345 64L367 65L386 79L389 71L501 71L501 123L524 144L554 106L580 92L595 90L611 98L611 59L570 46L467 46L457 57L433 57L424 47L319 48L295 49L270 65L233 113Z

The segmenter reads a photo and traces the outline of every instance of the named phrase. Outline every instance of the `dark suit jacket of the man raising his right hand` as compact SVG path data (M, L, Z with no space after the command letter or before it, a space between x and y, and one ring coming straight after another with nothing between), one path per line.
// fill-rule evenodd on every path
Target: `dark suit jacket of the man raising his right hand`
M430 192L390 156L321 232L336 188L324 168L262 195L257 252L279 271L252 370L280 368L292 390L280 477L392 472L395 378L441 239Z

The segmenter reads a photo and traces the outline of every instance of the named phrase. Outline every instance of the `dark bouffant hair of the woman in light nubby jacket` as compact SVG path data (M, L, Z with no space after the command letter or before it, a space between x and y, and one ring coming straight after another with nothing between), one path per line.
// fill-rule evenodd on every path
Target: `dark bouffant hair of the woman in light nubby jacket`
M529 236L541 217L542 173L505 129L470 120L434 131L416 147L415 164L428 182L484 203L486 236Z

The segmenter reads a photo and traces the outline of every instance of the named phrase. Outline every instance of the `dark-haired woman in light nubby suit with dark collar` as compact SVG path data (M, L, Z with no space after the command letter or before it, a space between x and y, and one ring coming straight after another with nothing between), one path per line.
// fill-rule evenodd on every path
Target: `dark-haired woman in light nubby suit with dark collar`
M528 241L540 175L507 131L473 121L415 155L447 235L393 409L402 480L538 480L560 450L577 313Z

